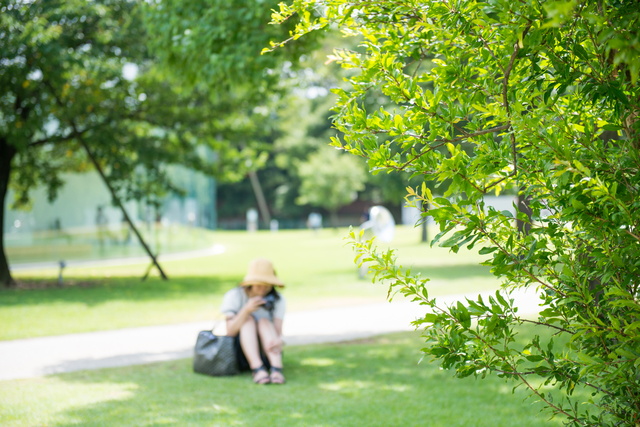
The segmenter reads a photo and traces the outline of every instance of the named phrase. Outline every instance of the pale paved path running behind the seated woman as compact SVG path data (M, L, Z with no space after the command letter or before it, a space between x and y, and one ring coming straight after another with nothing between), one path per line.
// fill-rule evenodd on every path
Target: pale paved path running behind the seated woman
M482 293L485 301L489 294ZM476 299L478 293L438 297L439 305L465 296ZM535 293L519 292L512 298L520 314L538 312ZM411 321L424 313L424 306L404 301L294 312L285 318L283 335L287 345L347 341L413 330ZM193 322L3 341L0 380L187 358L198 332L212 325ZM224 325L218 326L216 332L224 334Z

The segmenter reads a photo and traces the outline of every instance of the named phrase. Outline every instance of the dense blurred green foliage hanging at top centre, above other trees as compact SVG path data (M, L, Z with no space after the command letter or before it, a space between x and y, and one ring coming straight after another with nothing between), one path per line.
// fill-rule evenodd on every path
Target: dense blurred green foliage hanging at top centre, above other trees
M296 24L269 25L274 0L155 0L145 2L145 24L154 35L149 45L172 72L188 82L229 89L256 101L280 86L282 63L317 46L319 34L271 56L262 46L288 35Z

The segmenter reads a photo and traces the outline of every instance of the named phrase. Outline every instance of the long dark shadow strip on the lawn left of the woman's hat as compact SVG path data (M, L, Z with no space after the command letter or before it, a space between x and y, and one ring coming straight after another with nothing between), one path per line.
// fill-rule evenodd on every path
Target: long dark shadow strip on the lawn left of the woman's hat
M39 279L33 279L36 281ZM44 279L42 280L45 281ZM185 296L222 295L236 286L229 278L177 277L165 281L150 277L77 278L63 288L3 289L0 308L18 305L37 305L58 302L78 302L96 306L110 301L154 301L184 298Z

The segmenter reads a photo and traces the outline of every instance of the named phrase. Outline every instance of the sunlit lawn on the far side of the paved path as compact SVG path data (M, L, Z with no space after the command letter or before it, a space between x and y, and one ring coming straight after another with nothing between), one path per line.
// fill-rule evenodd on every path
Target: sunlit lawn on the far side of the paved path
M353 252L343 240L346 229L325 229L317 235L307 230L202 233L211 244L225 245L226 252L163 262L169 281L154 273L141 282L148 264L67 268L64 288L0 291L0 324L5 325L0 340L211 320L224 293L257 256L273 260L287 284L283 294L290 311L385 300L384 285L358 279ZM430 295L498 287L489 270L478 265L479 255L450 254L419 239L420 230L398 227L391 246L399 250L401 264L432 279ZM57 270L15 273L36 285L55 282L57 275Z

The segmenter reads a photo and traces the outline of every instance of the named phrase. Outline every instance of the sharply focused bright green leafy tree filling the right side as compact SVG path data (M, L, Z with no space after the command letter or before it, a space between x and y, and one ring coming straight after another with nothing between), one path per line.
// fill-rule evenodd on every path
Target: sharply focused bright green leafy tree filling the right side
M426 327L424 352L461 378L524 385L570 425L639 426L637 2L298 0L274 21L296 12L304 23L293 38L331 25L364 37L365 54L335 53L356 74L336 91L344 137L333 145L372 171L448 182L446 197L427 185L408 192L432 206L425 215L441 229L432 243L480 248L503 279L488 301L441 306L428 279L352 233L374 280L430 309L415 322ZM392 104L365 108L374 88ZM485 195L509 188L529 200L529 215L516 215L527 234L509 211L485 206ZM529 287L540 296L535 320L509 297ZM523 324L555 336L523 347Z

